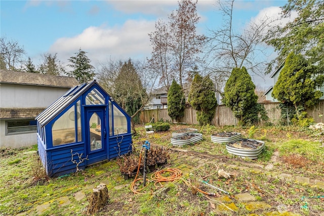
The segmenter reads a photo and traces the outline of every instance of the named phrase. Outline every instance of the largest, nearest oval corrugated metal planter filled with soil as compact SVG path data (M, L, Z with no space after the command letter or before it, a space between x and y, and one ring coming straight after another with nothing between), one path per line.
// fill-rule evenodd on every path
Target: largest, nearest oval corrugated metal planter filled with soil
M243 158L257 159L264 148L264 141L239 139L226 144L228 153L237 155Z

